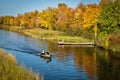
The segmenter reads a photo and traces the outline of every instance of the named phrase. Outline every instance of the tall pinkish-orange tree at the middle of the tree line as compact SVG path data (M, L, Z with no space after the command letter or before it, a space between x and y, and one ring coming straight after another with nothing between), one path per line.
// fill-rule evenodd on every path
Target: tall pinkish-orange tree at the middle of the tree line
M59 3L56 21L57 30L66 31L72 24L73 15L74 9L68 7L65 3Z

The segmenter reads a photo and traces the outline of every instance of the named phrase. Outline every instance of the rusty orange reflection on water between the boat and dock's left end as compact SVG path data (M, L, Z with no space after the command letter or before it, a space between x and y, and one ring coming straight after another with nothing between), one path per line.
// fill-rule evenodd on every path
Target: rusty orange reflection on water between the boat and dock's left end
M49 42L47 46L47 50L54 53L54 55L57 57L59 61L68 61L69 56L73 52L72 47L59 47L54 42ZM68 60L67 60L68 59Z

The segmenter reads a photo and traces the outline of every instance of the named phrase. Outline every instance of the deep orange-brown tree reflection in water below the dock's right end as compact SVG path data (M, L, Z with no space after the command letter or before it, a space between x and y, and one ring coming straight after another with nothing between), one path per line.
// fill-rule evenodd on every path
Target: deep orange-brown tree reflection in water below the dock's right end
M94 48L80 48L75 51L75 65L83 67L88 73L87 76L90 80L95 80L96 75L96 54ZM79 69L79 68L78 68Z

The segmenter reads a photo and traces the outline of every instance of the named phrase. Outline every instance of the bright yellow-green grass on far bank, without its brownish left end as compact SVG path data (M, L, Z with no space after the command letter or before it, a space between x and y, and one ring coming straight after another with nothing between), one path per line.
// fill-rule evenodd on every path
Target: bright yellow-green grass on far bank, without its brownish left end
M61 41L64 40L66 42L91 42L91 40L78 37L78 36L68 36L64 32L53 31L53 30L45 30L45 29L26 29L23 31L23 34L26 34L31 37L36 37L40 39L48 39Z

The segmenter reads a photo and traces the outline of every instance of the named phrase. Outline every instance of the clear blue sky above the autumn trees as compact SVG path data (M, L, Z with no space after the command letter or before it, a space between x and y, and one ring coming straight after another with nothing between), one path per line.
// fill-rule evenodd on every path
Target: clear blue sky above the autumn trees
M0 0L0 16L23 14L33 10L42 11L48 7L57 7L65 3L76 8L79 3L99 3L99 0Z

